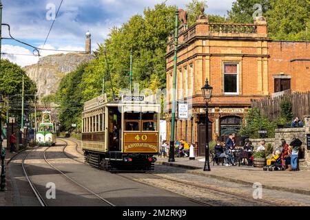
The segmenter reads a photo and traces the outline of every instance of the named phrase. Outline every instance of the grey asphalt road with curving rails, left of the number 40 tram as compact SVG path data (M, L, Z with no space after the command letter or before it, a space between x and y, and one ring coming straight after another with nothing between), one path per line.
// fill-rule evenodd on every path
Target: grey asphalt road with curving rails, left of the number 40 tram
M46 152L50 163L79 184L96 192L100 197L116 206L201 206L199 203L173 192L147 186L121 175L69 159L63 154L63 145L61 144L63 142L59 141L55 147L49 148ZM43 159L44 149L45 147L32 149L30 153L25 151L10 162L10 178L14 188L13 204L15 206L40 206L21 168L21 162L26 153L29 155L25 160L25 169L48 206L108 206L107 203L74 184L48 165ZM75 155L72 154L72 157ZM56 186L55 199L46 199L45 197L46 192L50 189L46 188L48 183L54 183Z

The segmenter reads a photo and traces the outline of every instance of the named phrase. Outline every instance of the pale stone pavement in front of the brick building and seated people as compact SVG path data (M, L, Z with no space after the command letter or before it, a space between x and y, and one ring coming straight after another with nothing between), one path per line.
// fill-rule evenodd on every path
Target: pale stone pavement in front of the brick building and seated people
M176 166L185 168L186 173L223 179L240 184L253 186L254 183L262 184L263 188L271 190L284 190L310 195L310 172L300 170L298 172L285 171L264 171L262 168L253 166L222 166L210 163L211 171L203 171L205 164L203 157L196 157L190 160L189 157L176 157L175 162L169 163L168 157L157 157L156 164Z

